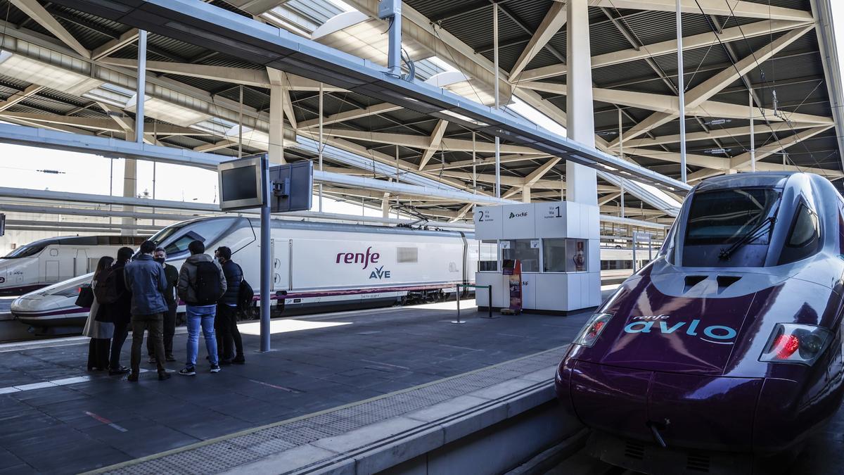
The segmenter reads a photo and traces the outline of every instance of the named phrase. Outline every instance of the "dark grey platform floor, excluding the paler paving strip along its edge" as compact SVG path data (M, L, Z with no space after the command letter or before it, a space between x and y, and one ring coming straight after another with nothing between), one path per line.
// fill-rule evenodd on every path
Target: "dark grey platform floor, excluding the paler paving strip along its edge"
M453 305L274 320L262 354L257 323L241 324L246 365L209 374L201 341L197 376L167 381L88 374L83 339L0 346L0 473L83 472L463 374L565 345L588 315L452 325Z

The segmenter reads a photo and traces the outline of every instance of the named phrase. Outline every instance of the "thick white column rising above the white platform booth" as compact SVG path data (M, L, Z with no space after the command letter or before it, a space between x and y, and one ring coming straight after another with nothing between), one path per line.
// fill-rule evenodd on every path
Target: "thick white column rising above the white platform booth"
M568 94L565 96L569 139L588 147L595 146L592 111L592 58L589 48L589 5L587 0L569 0L566 5L568 25ZM565 192L569 201L598 205L598 177L595 169L574 161L565 162Z

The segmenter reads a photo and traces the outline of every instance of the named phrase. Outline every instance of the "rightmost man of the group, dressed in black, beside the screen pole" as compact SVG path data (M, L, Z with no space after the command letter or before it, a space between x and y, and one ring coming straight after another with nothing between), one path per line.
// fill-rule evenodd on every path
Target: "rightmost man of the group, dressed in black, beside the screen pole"
M225 246L214 252L217 262L223 267L225 276L225 294L217 303L217 316L214 317L214 329L217 330L217 352L220 364L246 363L243 356L241 331L237 330L237 303L243 281L243 270L231 260L231 249ZM232 348L234 343L234 348ZM232 350L236 351L236 355Z

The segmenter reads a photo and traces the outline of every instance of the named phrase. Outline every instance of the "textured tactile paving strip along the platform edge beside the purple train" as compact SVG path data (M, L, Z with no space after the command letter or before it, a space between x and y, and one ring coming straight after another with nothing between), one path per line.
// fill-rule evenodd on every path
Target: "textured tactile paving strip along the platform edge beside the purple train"
M566 348L554 348L547 352L460 374L349 407L255 429L248 434L226 436L219 440L189 445L176 452L129 461L113 469L106 467L105 472L127 475L224 472L314 440L345 434L372 423L497 385L522 374L548 368L560 362L560 359L565 356Z

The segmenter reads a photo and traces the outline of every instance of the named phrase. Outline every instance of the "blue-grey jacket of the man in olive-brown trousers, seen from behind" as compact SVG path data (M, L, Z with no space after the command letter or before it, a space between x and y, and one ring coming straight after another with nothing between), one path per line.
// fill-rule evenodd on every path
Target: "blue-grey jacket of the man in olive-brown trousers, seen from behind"
M152 315L167 311L164 295L167 277L164 267L150 254L141 254L126 265L126 288L132 291L132 314Z

